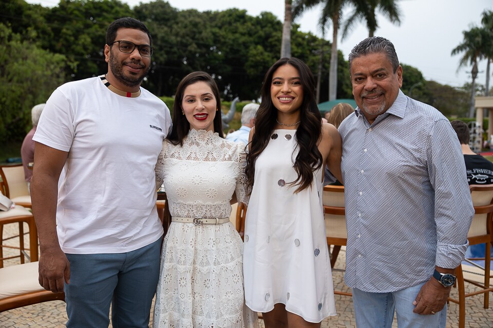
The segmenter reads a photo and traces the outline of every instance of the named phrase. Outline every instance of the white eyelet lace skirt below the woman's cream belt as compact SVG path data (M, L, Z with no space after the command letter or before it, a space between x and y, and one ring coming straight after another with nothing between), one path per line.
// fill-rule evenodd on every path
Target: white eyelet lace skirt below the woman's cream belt
M153 327L258 327L244 303L242 253L230 222L173 222L163 243Z

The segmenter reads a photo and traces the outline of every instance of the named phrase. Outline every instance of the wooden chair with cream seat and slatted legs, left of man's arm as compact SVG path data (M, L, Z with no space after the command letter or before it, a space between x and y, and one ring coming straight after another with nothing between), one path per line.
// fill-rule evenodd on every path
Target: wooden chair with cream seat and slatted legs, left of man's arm
M26 222L29 227L29 255L26 253L26 248L24 246L24 222ZM19 235L4 239L4 225L9 223L18 223ZM15 237L19 238L19 247L4 244L5 240ZM4 248L19 250L19 255L4 257ZM19 205L16 205L15 208L9 211L0 211L0 268L4 267L4 260L16 257L20 258L21 264L25 263L26 258L31 262L37 261L38 259L37 229L36 223L34 222L34 216L30 211Z

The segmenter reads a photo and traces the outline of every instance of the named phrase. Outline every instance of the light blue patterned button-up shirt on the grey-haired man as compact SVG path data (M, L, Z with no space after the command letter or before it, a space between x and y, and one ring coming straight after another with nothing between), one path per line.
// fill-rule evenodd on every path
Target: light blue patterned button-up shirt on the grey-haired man
M347 285L392 292L430 279L435 265L458 267L474 209L448 119L399 91L373 124L356 108L339 133Z

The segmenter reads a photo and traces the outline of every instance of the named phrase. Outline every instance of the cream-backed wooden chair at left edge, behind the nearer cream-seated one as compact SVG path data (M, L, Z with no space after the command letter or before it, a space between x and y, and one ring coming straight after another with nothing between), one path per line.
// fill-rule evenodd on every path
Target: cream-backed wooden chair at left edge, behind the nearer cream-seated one
M22 164L0 166L0 176L3 180L2 193L14 203L31 208L31 195L27 188Z

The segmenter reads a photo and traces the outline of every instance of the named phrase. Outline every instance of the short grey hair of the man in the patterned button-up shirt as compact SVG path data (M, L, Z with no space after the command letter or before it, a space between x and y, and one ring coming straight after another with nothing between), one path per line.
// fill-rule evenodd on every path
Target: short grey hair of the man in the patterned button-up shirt
M349 54L349 71L351 72L351 63L354 58L372 53L384 53L387 56L387 59L389 59L394 73L397 71L397 68L399 68L399 58L397 58L394 45L384 37L372 36L367 37L351 50L351 53Z

